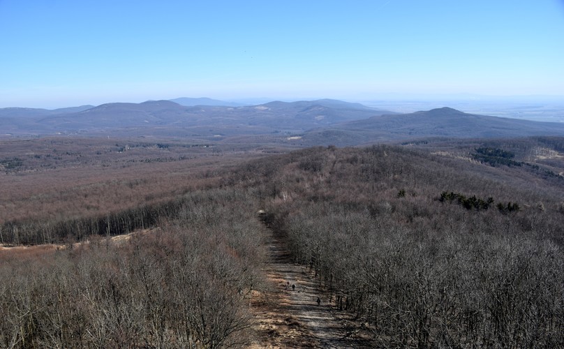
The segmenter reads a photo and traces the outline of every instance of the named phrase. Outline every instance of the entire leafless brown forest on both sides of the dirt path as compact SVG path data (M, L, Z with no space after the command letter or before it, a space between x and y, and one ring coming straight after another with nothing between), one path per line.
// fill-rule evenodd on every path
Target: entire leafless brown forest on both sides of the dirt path
M269 230L374 347L564 347L563 144L5 142L2 243L52 248L0 251L0 347L260 346Z

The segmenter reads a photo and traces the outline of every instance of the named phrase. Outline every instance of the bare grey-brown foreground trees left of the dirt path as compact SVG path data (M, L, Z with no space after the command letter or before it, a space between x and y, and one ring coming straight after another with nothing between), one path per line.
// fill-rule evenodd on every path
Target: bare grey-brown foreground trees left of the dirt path
M186 195L123 242L0 251L0 348L239 348L265 290L262 229L241 191ZM66 248L65 248L66 247Z

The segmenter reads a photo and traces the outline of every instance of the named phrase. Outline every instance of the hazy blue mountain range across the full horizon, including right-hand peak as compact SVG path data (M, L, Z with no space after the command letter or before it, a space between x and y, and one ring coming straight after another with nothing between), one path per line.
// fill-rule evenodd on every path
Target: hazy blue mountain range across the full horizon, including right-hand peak
M268 139L296 146L344 146L429 137L564 136L564 124L467 114L449 107L397 114L331 99L221 104L209 98L177 98L57 110L3 108L0 137L112 135L209 138L214 142Z

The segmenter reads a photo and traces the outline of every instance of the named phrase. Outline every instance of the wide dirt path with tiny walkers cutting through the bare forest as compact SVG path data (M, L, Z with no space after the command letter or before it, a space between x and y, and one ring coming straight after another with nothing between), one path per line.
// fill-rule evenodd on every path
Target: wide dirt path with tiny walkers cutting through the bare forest
M265 273L272 291L253 302L258 338L251 348L370 348L352 315L329 304L329 294L308 269L290 261L274 232L269 250Z

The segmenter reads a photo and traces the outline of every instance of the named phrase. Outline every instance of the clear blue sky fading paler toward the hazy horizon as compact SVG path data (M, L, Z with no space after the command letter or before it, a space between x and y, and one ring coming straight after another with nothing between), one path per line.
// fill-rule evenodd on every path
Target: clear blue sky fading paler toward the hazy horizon
M0 0L0 107L564 95L564 0Z

